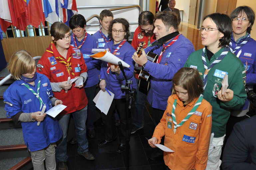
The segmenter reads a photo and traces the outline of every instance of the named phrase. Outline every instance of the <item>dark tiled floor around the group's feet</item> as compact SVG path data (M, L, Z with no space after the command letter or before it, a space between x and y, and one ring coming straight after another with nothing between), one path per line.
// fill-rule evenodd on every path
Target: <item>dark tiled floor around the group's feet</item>
M133 112L134 106L131 108ZM165 169L164 161L153 161L149 159L149 155L153 148L151 148L146 138L151 138L154 125L151 118L151 107L147 103L144 112L144 127L134 134L131 134L129 142L129 169L130 170L162 170ZM77 144L71 144L68 142L68 167L70 170L125 170L127 162L127 153L118 153L117 147L119 145L119 139L117 138L105 147L99 147L98 143L104 139L104 127L101 119L95 122L96 135L94 138L89 138L89 150L95 156L95 160L90 161L77 153ZM119 133L119 126L117 126Z

